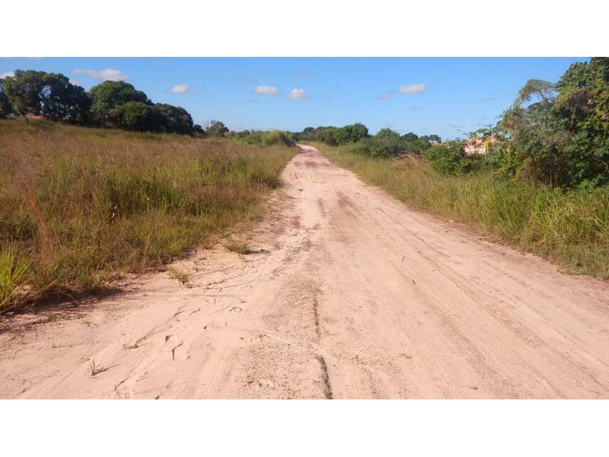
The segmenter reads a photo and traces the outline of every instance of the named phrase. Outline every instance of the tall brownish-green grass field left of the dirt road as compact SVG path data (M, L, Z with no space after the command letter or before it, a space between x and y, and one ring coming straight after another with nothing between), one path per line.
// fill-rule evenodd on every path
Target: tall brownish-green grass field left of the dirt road
M259 217L296 151L0 121L0 311L210 246Z

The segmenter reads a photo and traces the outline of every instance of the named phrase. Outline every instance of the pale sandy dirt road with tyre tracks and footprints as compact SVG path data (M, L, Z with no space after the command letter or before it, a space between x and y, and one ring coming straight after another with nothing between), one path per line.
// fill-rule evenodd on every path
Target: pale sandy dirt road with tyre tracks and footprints
M0 334L6 398L608 398L609 287L305 148L252 254L202 251Z

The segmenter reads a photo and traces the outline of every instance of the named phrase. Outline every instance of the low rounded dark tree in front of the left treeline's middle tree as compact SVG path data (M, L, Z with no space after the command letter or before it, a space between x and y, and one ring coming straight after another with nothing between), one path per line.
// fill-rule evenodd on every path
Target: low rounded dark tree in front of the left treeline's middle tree
M124 130L160 132L166 129L166 119L155 107L143 102L126 102L107 114L109 127Z

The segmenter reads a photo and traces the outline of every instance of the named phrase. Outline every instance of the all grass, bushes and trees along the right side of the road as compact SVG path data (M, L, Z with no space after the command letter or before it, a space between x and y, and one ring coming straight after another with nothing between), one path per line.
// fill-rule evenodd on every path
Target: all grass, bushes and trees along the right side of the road
M416 208L609 277L609 58L556 83L529 80L497 125L468 139L335 131L305 129L301 141Z

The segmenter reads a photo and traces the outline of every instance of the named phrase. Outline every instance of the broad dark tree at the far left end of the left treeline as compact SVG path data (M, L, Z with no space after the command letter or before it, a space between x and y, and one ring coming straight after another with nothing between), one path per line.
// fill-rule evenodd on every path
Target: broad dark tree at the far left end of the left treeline
M82 87L61 73L16 70L3 83L11 106L21 116L36 114L48 119L84 122L90 100Z

